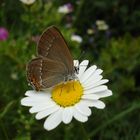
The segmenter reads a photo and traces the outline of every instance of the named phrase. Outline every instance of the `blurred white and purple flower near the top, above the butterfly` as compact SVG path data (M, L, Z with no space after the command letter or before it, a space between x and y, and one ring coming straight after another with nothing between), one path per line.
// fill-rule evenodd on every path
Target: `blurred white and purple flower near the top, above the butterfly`
M71 13L72 11L73 11L73 6L72 6L71 3L67 3L67 4L65 4L65 5L63 5L63 6L60 6L60 7L58 8L58 12L59 12L59 13L63 13L63 14L69 14L69 13Z

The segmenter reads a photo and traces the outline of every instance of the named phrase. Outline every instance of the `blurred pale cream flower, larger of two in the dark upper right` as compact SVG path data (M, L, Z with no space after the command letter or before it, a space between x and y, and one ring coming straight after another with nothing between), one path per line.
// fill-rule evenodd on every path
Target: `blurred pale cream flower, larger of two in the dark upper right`
M104 20L97 20L96 25L98 30L108 30L109 26L106 24Z

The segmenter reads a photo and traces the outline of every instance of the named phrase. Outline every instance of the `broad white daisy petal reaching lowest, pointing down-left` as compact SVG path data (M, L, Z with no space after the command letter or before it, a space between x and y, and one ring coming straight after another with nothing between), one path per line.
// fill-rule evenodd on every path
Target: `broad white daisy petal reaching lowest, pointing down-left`
M51 114L45 120L44 128L46 130L52 130L52 129L56 128L62 121L62 112L63 112L63 109L60 108L58 111Z

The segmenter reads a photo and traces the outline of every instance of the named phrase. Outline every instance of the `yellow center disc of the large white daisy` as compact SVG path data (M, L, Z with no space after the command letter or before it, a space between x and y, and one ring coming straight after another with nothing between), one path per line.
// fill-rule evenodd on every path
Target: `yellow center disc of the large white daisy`
M73 106L80 101L83 87L79 81L69 81L55 86L52 99L62 107Z

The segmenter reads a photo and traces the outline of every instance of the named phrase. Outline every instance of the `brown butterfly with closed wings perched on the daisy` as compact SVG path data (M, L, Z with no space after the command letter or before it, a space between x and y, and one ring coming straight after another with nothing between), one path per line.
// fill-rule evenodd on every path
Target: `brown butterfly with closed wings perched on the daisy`
M55 26L43 32L37 53L37 58L27 65L27 79L35 90L76 79L73 58L64 37Z

